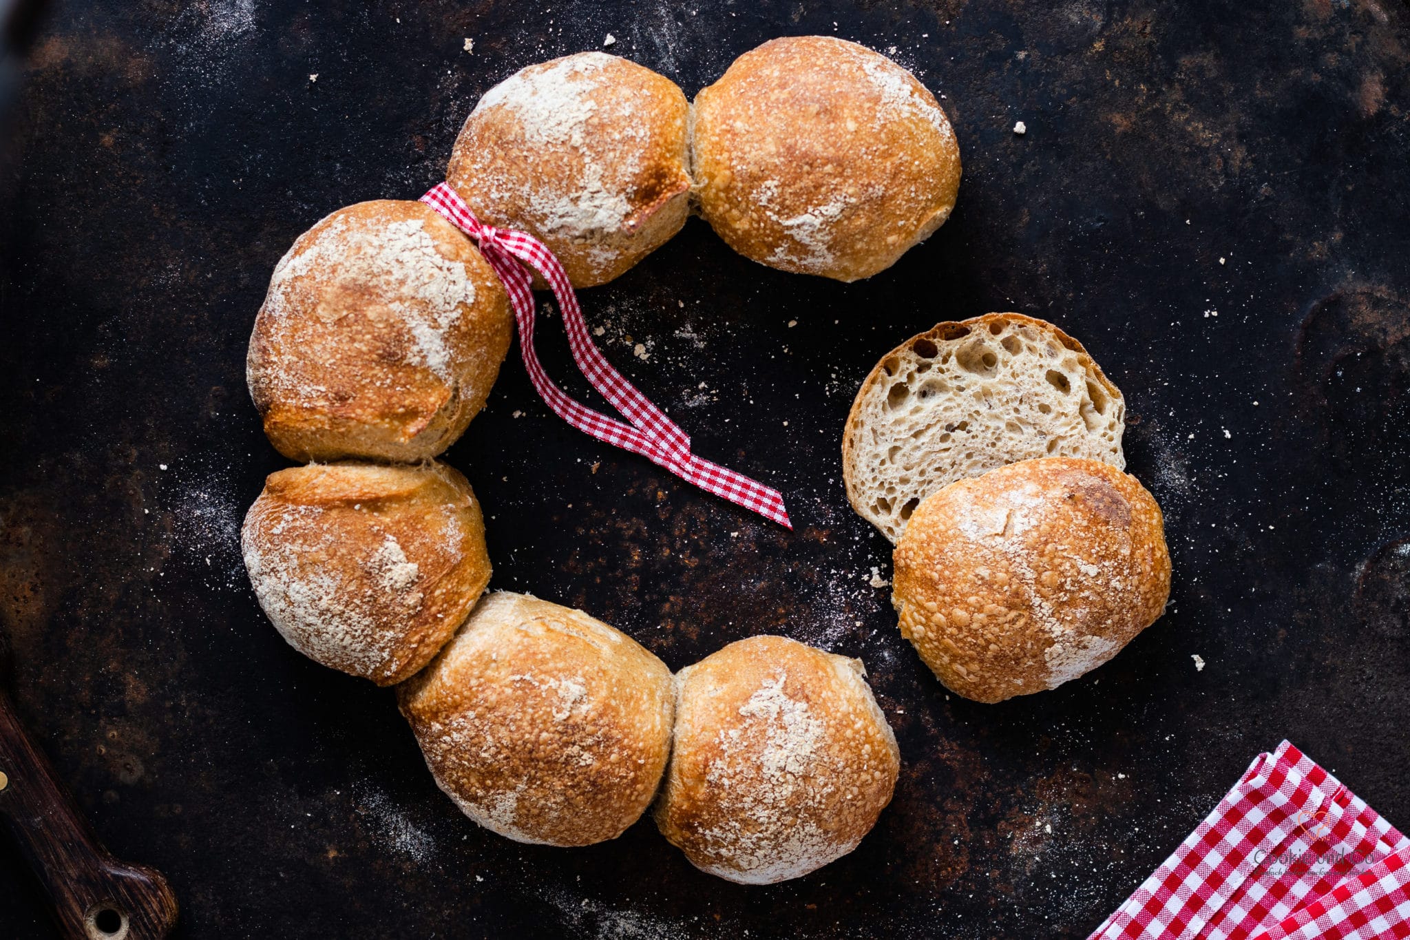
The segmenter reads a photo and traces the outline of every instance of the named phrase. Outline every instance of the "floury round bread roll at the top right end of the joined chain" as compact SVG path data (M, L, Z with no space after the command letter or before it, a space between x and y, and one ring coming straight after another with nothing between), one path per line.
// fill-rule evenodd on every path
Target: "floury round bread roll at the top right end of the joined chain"
M771 39L695 99L701 214L781 271L857 280L949 218L960 151L891 59L832 37Z

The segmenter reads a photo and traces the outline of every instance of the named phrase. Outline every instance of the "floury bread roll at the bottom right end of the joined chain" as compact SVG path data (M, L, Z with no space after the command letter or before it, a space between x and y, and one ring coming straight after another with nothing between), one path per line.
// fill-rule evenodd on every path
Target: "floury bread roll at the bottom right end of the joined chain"
M661 834L701 871L746 885L856 848L901 767L864 676L859 660L768 636L681 669Z

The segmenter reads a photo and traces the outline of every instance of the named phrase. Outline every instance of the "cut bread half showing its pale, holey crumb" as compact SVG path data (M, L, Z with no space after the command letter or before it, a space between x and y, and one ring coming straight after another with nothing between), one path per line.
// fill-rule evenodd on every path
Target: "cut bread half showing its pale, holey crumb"
M847 414L847 499L893 543L922 499L1035 457L1117 469L1125 399L1081 344L1050 323L987 313L940 323L881 357Z

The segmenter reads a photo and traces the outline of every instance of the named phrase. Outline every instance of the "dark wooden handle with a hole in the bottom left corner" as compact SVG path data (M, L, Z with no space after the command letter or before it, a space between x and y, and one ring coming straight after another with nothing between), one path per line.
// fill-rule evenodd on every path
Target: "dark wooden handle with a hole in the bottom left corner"
M159 940L176 896L159 872L107 854L0 692L0 816L73 940Z

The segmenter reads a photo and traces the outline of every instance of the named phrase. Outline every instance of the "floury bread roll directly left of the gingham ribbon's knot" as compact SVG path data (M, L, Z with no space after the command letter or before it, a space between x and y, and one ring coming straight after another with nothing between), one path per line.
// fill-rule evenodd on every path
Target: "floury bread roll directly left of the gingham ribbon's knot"
M358 203L274 269L250 395L296 461L427 459L484 407L512 323L503 285L460 230L422 203Z

